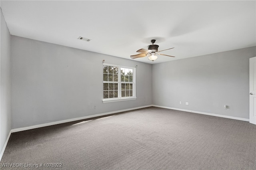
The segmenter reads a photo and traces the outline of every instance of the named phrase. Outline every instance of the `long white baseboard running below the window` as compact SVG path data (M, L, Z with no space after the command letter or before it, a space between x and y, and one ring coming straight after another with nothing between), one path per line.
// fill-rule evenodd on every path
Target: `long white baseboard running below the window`
M100 113L100 114L96 114L96 115L89 115L89 116L78 117L78 118L73 118L73 119L66 119L66 120L63 120L63 121L56 121L56 122L44 123L44 124L33 125L33 126L29 126L29 127L14 128L14 129L11 130L11 132L20 132L20 131L23 131L23 130L30 130L30 129L33 129L33 128L47 127L47 126L51 126L51 125L58 125L58 124L61 124L61 123L67 123L67 122L72 122L72 121L79 121L79 120L82 120L82 119L88 119L88 118L92 118L92 117L110 115L110 114L114 114L114 113L120 113L120 112L125 112L125 111L131 111L131 110L135 110L135 109L142 109L142 108L151 107L151 106L152 106L152 105L141 106L141 107L134 107L134 108L130 108L130 109L123 109L123 110L119 110L119 111L112 111L112 112L107 112L107 113Z

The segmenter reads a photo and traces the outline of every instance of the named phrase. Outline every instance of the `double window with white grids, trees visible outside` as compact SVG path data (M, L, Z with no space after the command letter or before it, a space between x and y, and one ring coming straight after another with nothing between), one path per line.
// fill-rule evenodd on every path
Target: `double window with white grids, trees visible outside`
M136 99L135 68L103 65L103 102Z

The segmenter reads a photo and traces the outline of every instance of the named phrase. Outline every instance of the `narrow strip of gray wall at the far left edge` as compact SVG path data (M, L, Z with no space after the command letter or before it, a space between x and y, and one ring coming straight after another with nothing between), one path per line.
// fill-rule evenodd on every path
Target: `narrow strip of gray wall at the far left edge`
M11 130L10 33L2 10L0 23L0 150Z

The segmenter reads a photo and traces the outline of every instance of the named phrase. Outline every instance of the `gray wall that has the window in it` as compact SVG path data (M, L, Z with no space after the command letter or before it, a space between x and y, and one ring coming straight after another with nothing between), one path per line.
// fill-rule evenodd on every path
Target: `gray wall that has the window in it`
M17 36L11 49L12 128L152 104L150 64ZM102 103L103 59L138 65L136 100Z

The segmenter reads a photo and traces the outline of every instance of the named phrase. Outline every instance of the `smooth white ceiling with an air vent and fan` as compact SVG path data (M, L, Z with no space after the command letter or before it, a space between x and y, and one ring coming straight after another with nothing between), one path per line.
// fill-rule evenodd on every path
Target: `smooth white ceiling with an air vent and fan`
M130 59L156 39L160 63L256 45L256 1L1 0L10 34ZM92 39L90 42L78 37Z

